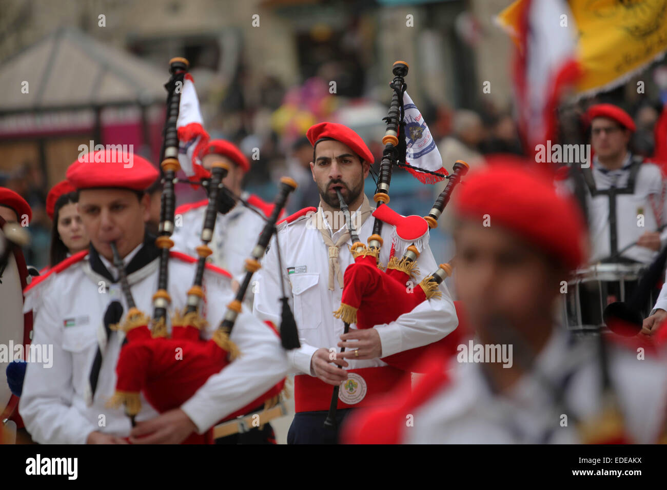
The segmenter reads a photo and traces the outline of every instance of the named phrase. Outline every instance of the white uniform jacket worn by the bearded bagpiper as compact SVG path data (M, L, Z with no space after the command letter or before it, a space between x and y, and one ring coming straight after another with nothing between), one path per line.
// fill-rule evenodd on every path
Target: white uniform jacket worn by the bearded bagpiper
M297 213L298 214L298 213ZM314 376L310 369L313 353L321 347L335 348L340 342L344 331L344 323L333 317L333 311L340 307L342 289L338 281L333 281L333 291L329 291L328 249L319 229L317 229L315 213L312 211L294 219L283 221L277 227L277 239L282 258L282 269L279 271L275 237L262 261L257 274L257 292L253 312L261 319L276 323L280 317L281 277L285 293L292 306L299 331L301 347L288 353L292 367L297 373ZM353 213L352 219L356 213ZM372 235L375 218L370 216L358 230L362 242L367 243ZM327 227L329 223L324 221ZM329 233L331 229L329 227ZM344 229L332 235L333 243ZM384 245L380 251L380 262L387 265L392 249L392 235L395 227L384 223L382 238ZM338 260L341 271L354 262L349 247L352 241L340 247ZM399 243L395 255L401 257L410 243ZM421 252L418 259L420 274L416 277L415 286L427 275L438 269L438 264L428 247L428 233L422 243L416 244ZM291 273L288 273L288 269ZM430 299L418 305L410 313L398 317L396 321L385 325L376 325L382 342L382 356L392 355L401 351L421 347L445 337L458 325L456 310L450 293L444 284L440 285L442 297ZM355 325L350 325L351 329ZM347 359L350 366L346 369L386 366L381 359Z

